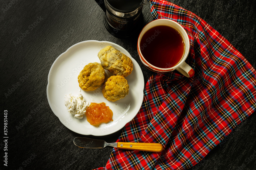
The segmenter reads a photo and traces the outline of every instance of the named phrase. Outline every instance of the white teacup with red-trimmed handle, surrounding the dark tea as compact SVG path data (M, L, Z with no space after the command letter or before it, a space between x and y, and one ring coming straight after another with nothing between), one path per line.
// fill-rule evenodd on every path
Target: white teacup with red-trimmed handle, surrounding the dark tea
M182 58L175 66L170 67L170 68L159 68L159 67L152 65L144 58L144 56L142 55L142 52L141 52L141 48L143 48L143 47L140 47L140 44L141 44L141 39L142 39L143 35L151 28L160 26L160 25L172 27L173 29L178 31L185 42L185 51L184 51ZM137 42L137 51L140 56L140 60L146 68L148 68L154 72L158 72L158 73L165 73L165 72L177 70L178 72L180 72L181 74L183 74L186 77L192 77L195 74L195 71L187 63L185 63L185 60L189 54L189 48L190 48L190 44L189 44L189 38L188 38L187 32L184 30L184 28L179 23L177 23L173 20L170 20L170 19L156 19L154 21L151 21L147 25L145 25L145 27L142 29L142 31L138 37L138 42ZM152 50L156 50L156 49L152 49ZM158 57L157 59L161 59L161 56Z

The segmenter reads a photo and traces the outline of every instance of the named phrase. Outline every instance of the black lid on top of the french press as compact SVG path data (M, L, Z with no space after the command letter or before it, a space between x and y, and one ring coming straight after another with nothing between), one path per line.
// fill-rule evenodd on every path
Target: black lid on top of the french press
M137 9L144 0L105 0L105 2L115 11L126 13Z

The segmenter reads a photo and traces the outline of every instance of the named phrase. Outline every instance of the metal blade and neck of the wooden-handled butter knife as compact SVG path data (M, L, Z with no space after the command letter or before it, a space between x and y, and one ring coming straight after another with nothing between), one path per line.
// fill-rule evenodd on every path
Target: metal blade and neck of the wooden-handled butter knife
M117 143L106 143L104 140L99 139L76 137L74 138L73 142L76 146L80 148L100 149L105 148L106 146L117 147Z

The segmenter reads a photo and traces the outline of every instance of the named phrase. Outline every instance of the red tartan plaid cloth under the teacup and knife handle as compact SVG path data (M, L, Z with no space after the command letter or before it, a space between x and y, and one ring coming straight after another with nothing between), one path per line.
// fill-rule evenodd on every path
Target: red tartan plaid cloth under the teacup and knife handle
M238 50L190 11L162 0L150 3L154 19L172 19L187 31L186 62L195 75L152 75L140 111L118 139L162 143L161 153L114 148L98 169L187 169L256 108L256 72Z

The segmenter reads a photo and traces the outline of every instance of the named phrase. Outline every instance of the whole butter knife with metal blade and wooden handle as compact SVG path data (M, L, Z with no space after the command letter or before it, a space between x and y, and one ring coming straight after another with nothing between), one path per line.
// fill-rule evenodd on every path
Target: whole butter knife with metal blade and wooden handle
M140 142L116 142L106 143L104 140L90 138L74 138L74 144L80 148L101 149L112 146L118 149L130 149L139 151L161 152L164 148L161 143L140 143Z

